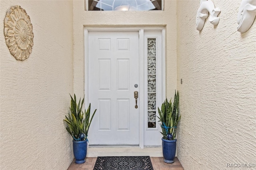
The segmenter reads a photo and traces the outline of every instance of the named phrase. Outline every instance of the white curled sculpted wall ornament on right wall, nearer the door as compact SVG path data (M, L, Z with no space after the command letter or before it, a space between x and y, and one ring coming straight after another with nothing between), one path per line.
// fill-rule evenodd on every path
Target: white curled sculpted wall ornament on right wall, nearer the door
M209 21L214 26L218 25L220 18L220 8L215 8L211 0L201 0L200 7L198 8L196 14L196 30L201 31L204 28L205 19L208 18L208 13L210 13Z

